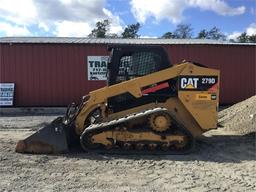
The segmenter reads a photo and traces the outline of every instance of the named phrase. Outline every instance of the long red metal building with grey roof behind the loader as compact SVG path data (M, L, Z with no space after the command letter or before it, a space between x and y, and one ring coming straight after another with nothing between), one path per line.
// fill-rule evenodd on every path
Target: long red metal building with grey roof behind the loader
M65 106L103 87L88 80L88 56L107 56L108 44L163 46L172 63L194 61L221 70L221 104L256 94L256 44L213 40L0 38L0 83L15 83L14 106Z

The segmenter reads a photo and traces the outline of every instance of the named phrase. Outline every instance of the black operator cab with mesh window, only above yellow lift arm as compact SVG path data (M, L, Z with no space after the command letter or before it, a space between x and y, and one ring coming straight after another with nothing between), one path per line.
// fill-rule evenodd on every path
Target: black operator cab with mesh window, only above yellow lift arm
M109 86L170 67L168 55L160 46L119 45L108 49Z

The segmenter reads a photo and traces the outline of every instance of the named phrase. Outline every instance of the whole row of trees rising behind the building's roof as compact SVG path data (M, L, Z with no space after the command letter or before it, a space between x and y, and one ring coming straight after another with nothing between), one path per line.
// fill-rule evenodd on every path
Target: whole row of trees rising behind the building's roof
M127 25L121 35L110 33L110 21L105 19L98 21L95 28L89 34L89 37L95 38L139 38L140 23ZM210 30L202 29L196 36L193 36L193 28L190 24L179 24L174 31L164 33L161 38L164 39L213 39L227 40L227 36L221 30L214 26ZM256 34L248 35L243 32L236 40L230 39L230 42L238 43L256 43Z

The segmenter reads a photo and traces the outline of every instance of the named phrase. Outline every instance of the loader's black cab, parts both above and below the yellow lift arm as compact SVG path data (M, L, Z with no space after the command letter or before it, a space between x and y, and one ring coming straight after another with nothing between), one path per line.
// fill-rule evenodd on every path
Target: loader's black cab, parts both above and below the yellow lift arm
M145 76L171 66L168 55L160 46L134 46L124 45L110 47L110 60L108 64L108 86ZM172 91L170 86L155 93L145 94L135 98L129 92L108 99L108 107L113 112L141 106L152 102L164 102ZM149 86L150 87L150 86Z

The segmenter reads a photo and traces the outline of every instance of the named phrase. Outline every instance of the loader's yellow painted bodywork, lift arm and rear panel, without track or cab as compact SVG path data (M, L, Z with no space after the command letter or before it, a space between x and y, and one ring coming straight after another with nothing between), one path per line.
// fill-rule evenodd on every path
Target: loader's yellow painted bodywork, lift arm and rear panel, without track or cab
M219 105L219 82L214 84L214 90L197 91L196 88L183 89L178 91L177 98L171 98L166 103L151 103L139 106L119 113L107 112L107 100L110 97L129 92L134 97L142 97L142 88L179 76L217 76L219 71L196 66L186 62L175 65L174 67L135 78L110 87L104 87L89 93L89 100L78 114L75 125L77 134L84 131L84 122L88 115L96 108L102 108L104 120L118 119L127 114L136 113L155 107L165 107L176 114L176 118L191 131L194 136L217 127L217 109ZM193 82L193 81L192 81ZM193 86L193 85L192 85ZM213 97L213 98L212 98Z

